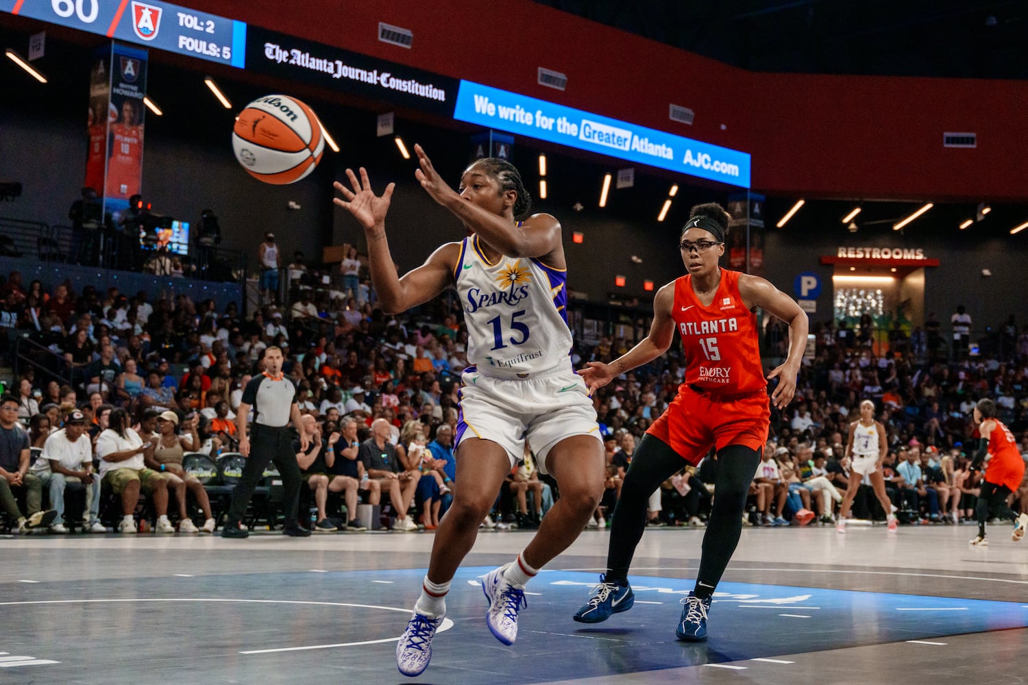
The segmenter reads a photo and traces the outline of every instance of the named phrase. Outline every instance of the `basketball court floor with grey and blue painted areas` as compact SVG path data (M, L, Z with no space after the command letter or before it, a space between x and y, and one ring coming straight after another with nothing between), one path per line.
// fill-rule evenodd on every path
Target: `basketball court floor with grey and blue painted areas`
M453 581L429 669L401 676L431 533L294 539L0 539L0 683L1020 683L1028 542L990 526L746 529L706 643L674 639L702 530L650 529L635 606L572 620L609 532L586 531L527 587L513 647L485 626L478 577L525 532L483 532Z

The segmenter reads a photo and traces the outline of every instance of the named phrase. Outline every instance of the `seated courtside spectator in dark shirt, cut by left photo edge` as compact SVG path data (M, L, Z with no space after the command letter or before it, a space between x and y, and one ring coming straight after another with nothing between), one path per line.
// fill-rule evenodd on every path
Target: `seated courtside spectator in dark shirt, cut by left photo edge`
M43 482L29 472L29 435L17 423L17 397L0 398L0 507L17 521L17 531L49 526L57 511L42 511ZM26 493L28 517L22 515L14 494Z

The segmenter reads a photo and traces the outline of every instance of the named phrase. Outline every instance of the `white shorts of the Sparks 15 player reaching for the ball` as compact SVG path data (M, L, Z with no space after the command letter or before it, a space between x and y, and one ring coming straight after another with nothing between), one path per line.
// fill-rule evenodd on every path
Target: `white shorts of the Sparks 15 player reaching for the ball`
M507 450L513 467L528 441L539 470L547 473L546 458L560 441L573 435L601 440L585 381L570 369L525 379L466 371L462 380L454 451L462 440L489 440Z

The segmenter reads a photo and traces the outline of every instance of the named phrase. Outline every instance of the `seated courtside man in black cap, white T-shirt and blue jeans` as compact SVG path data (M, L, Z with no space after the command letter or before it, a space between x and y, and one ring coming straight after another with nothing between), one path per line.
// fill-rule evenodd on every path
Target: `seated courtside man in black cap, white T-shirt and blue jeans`
M50 525L51 533L67 533L65 518L65 488L69 483L85 486L86 510L82 524L90 533L106 533L100 523L100 479L93 473L93 444L85 434L85 415L76 410L65 419L64 428L50 433L43 445L42 454L33 464L33 472L48 489L50 505L57 518Z

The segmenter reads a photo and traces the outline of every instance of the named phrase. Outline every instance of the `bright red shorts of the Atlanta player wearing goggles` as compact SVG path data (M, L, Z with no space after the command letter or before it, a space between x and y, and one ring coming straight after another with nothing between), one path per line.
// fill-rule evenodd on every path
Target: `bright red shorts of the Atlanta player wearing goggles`
M769 404L764 390L718 398L686 386L647 432L694 465L711 447L742 445L757 451L768 440Z

